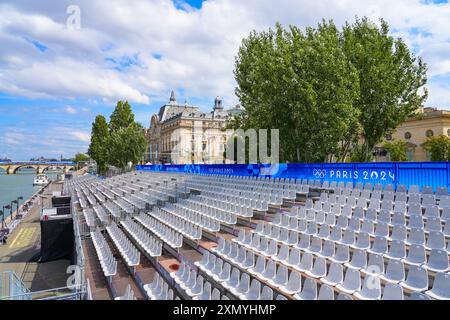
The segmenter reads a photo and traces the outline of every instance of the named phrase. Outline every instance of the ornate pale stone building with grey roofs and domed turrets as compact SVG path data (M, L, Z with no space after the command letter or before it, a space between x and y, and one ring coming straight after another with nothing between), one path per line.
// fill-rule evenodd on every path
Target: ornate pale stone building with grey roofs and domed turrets
M228 120L240 112L240 106L225 109L222 100L216 98L212 111L204 113L197 106L178 103L172 91L169 102L151 117L144 161L153 164L223 163L230 136L224 129Z

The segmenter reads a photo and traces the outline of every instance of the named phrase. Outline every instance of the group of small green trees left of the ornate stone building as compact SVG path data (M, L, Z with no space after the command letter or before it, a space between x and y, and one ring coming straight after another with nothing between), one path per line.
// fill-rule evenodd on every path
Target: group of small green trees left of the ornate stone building
M129 162L141 161L146 144L144 128L135 122L130 104L119 101L109 124L102 115L95 118L88 153L104 173L108 165L124 169Z

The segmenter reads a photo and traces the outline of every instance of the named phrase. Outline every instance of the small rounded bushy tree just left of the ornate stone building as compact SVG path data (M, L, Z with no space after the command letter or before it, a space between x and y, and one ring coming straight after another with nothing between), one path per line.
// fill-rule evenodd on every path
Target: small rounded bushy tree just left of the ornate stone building
M128 162L134 164L142 160L147 147L144 128L133 122L127 128L120 128L111 133L108 139L109 164L126 168Z

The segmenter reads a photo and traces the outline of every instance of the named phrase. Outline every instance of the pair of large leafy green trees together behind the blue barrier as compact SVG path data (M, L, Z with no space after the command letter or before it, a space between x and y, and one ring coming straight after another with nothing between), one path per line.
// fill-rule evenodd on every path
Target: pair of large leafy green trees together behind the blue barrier
M252 32L235 61L245 111L230 128L280 130L280 160L371 161L428 93L427 67L367 18Z

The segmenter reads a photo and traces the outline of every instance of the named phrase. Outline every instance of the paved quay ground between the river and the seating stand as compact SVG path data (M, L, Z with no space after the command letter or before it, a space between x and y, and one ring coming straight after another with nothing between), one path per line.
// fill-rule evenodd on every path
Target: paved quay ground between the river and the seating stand
M43 193L44 206L50 202L53 191L61 191L61 183L52 183ZM28 216L0 246L0 272L14 271L31 291L65 287L68 260L38 263L41 228L41 206L34 206Z

